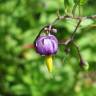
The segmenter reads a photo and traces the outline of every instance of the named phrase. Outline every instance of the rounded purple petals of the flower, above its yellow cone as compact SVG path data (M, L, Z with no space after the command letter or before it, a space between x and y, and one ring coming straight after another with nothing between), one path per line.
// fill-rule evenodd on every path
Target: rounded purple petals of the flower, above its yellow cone
M58 40L54 35L40 36L36 40L35 47L40 55L55 54L58 49Z

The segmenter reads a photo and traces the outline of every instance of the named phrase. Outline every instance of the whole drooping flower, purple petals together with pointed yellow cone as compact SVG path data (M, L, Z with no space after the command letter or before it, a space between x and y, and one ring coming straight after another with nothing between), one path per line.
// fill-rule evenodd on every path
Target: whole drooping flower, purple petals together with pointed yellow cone
M54 35L39 36L35 42L36 52L45 55L45 62L49 72L53 69L52 55L58 50L58 40Z

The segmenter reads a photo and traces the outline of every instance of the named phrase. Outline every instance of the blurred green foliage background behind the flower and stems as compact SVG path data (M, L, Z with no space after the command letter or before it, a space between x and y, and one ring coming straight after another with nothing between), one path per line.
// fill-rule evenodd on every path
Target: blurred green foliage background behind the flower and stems
M47 72L43 56L23 48L33 43L44 25L54 21L58 8L62 15L65 7L72 11L74 1L0 0L0 96L96 96L96 20L84 20L75 38L89 63L88 72L80 68L72 46L67 55L59 46L52 74ZM95 0L87 0L81 7L84 16L96 13ZM57 38L68 38L75 26L75 20L58 22Z

